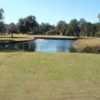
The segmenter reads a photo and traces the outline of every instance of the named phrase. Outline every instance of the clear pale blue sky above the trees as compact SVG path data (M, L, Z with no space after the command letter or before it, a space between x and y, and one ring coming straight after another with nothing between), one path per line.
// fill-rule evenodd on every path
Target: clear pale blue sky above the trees
M85 18L97 22L100 13L100 0L0 0L6 23L18 22L28 15L36 20L56 24L59 20L69 22L71 19Z

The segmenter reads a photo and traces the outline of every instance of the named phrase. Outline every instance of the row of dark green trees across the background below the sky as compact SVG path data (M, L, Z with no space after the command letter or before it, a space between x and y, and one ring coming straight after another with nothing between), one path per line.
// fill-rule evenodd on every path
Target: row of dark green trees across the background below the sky
M69 23L59 21L57 25L49 23L39 24L33 15L20 18L17 23L4 22L4 10L0 9L0 34L33 34L33 35L61 35L61 36L100 36L100 22L91 23L84 18L72 19ZM100 20L100 15L98 15Z

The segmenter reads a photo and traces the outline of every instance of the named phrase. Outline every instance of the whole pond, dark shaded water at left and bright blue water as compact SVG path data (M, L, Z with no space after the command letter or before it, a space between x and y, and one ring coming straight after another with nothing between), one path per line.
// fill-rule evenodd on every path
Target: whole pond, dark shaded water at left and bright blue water
M0 51L70 52L75 40L35 39L26 42L0 42Z

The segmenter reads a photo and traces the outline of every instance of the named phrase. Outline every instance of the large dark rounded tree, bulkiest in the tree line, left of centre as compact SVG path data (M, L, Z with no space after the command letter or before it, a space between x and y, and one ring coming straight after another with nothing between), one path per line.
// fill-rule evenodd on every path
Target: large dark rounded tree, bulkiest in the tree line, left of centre
M36 21L35 16L28 16L21 18L17 24L19 32L21 33L33 33L35 34L39 29L39 24Z

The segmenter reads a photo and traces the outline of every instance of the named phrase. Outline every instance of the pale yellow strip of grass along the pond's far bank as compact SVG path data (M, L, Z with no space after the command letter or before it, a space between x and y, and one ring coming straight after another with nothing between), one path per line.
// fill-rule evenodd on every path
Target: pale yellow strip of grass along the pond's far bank
M13 34L13 38L11 34L0 35L0 41L27 41L33 40L34 38L40 39L77 39L77 37L73 36L58 36L58 35L27 35L27 34Z

